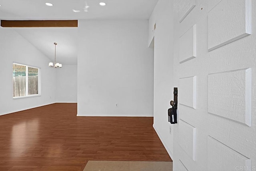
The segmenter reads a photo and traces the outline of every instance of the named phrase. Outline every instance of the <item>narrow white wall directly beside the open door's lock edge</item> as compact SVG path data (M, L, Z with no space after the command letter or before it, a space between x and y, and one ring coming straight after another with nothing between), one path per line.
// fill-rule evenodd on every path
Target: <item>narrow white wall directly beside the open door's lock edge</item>
M154 24L156 30L152 32ZM151 31L151 32L150 32ZM167 152L173 154L167 110L173 100L173 4L159 0L149 19L149 43L154 37L154 129Z

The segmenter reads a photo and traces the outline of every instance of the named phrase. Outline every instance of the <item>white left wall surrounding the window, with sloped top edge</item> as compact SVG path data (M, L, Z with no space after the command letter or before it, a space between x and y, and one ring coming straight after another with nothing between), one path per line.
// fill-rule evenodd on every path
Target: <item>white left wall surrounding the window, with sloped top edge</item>
M12 98L12 62L41 68L41 96ZM46 56L17 32L0 27L0 115L55 102L56 72L48 67L48 62Z

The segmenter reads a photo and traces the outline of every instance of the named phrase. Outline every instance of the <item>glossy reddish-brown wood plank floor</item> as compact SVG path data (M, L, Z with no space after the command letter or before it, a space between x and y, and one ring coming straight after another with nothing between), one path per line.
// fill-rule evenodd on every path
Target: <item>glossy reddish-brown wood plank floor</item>
M152 117L76 117L76 103L0 116L0 171L81 171L88 160L172 161Z

